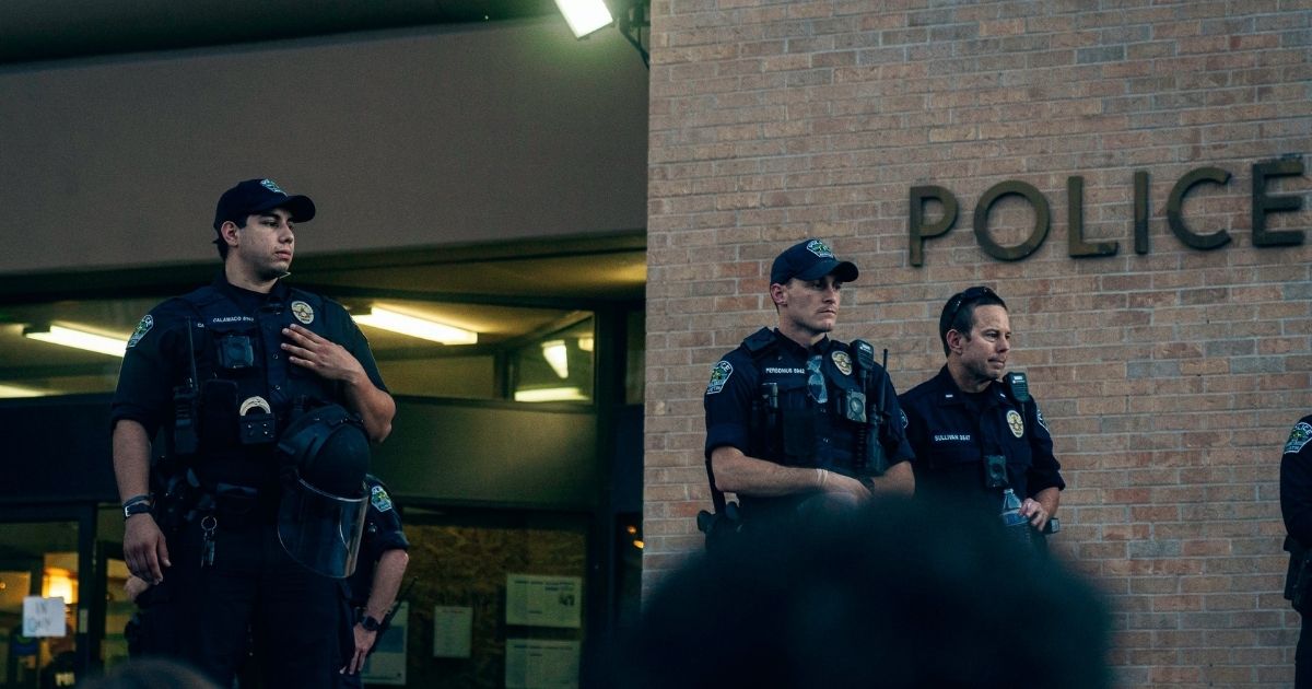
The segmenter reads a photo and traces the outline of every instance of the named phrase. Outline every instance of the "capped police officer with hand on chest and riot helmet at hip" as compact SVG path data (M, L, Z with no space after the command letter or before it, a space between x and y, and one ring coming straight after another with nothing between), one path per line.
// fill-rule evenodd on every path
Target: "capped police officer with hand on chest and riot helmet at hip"
M264 685L335 684L369 442L396 412L346 311L281 280L314 215L272 180L224 192L223 272L142 319L110 413L123 556L168 639L146 651L224 686L252 639Z

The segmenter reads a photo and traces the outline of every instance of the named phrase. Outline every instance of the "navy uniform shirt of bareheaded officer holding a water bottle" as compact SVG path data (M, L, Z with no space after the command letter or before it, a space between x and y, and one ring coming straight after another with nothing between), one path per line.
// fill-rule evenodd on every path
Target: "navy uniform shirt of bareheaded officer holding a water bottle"
M977 499L1000 511L1001 488L984 483L984 457L991 454L1006 457L1008 480L1021 499L1065 488L1043 413L1033 399L1017 400L1006 383L964 394L945 366L900 399L916 451L917 493Z

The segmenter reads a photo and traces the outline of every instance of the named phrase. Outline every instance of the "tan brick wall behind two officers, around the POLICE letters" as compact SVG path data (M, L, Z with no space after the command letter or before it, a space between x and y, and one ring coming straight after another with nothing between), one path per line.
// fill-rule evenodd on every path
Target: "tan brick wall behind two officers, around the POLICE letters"
M887 346L899 390L941 366L951 293L1008 299L1012 367L1069 483L1056 543L1111 596L1120 685L1291 682L1277 488L1281 445L1312 409L1312 244L1254 245L1250 207L1252 165L1292 155L1303 173L1267 194L1303 209L1267 230L1312 231L1309 58L1312 5L1295 0L655 0L644 585L701 547L710 366L774 323L773 256L819 236L862 269L836 336ZM1177 180L1204 167L1231 175L1181 203L1189 231L1231 238L1207 251L1168 222ZM1069 255L1072 176L1084 240L1117 241L1114 256ZM1006 180L1051 210L1017 261L972 234ZM921 266L917 185L959 202ZM1004 247L1034 223L1017 196L989 214Z

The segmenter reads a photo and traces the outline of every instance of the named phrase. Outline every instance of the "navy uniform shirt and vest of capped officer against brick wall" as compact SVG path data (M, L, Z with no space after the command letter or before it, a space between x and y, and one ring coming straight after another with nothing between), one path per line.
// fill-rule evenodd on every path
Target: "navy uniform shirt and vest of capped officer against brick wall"
M756 352L753 346L757 348ZM819 356L825 381L825 404L817 404L807 391L807 361L813 356ZM846 421L841 416L845 395L862 390L853 360L846 344L828 337L810 350L778 329L771 332L762 328L744 340L743 345L726 354L711 369L711 382L703 398L707 459L711 450L728 445L758 459L855 475L853 453L861 424ZM879 441L888 463L908 461L912 451L903 436L897 392L878 364L871 381L871 390L867 391L871 413L876 411L879 388L883 388L883 407L878 411L884 423ZM783 430L779 434L783 437L768 438L765 429L760 428L768 383L777 386L779 413L783 417Z

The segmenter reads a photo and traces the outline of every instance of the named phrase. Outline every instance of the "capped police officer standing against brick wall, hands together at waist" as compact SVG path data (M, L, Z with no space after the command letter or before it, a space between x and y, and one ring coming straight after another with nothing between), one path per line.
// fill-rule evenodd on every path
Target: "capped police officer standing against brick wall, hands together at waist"
M718 533L914 491L897 392L874 348L828 337L840 290L857 276L819 239L790 247L770 268L779 327L711 369L703 402L716 509L698 520L708 545Z

